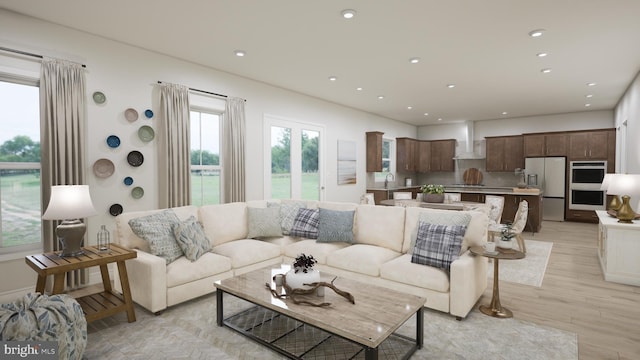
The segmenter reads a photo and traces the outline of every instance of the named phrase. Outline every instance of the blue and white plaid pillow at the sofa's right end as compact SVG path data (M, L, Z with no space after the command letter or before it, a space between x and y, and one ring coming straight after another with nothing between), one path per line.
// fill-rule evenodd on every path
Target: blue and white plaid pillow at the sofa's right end
M436 225L420 221L418 238L411 262L449 271L451 263L460 255L466 226Z

